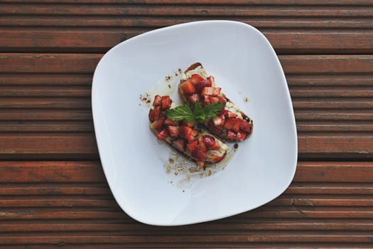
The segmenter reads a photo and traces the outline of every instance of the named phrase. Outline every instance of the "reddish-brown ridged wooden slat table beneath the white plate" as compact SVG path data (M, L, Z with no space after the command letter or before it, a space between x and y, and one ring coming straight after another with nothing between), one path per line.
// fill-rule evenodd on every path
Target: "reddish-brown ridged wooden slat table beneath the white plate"
M1 1L0 248L373 248L373 1L138 2ZM254 211L146 226L104 178L92 73L121 41L205 19L252 24L279 54L296 176Z

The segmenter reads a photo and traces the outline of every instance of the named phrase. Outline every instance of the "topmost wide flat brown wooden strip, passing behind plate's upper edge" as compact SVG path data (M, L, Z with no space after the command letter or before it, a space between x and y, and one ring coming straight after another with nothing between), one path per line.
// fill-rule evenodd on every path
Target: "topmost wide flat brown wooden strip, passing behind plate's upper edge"
M0 28L1 52L105 53L121 41L153 28ZM279 54L371 54L372 31L266 31L264 35ZM38 34L36 36L36 34ZM340 72L342 73L342 72Z

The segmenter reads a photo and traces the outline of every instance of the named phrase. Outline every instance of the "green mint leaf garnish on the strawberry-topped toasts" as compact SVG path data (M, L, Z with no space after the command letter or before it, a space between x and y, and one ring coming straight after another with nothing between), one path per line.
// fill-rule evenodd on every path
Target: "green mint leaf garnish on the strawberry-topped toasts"
M215 104L201 105L195 102L193 110L189 105L179 105L173 109L166 110L166 115L170 120L187 120L190 123L203 122L216 117L225 103L217 102Z

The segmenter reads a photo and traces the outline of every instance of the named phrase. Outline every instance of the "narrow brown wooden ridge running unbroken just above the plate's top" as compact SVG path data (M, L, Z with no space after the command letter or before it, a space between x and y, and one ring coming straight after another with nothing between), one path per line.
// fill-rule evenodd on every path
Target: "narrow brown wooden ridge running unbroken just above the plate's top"
M3 15L126 15L126 16L372 16L371 6L171 6L94 4L0 4Z

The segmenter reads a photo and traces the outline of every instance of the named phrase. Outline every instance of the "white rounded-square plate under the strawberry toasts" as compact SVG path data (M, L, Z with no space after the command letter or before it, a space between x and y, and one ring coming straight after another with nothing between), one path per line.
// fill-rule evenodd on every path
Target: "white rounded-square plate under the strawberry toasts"
M189 179L166 172L172 149L148 128L140 96L170 94L180 101L178 69L195 62L252 117L254 132L225 169ZM175 226L249 211L285 191L296 171L296 124L281 64L269 41L244 23L183 23L120 43L94 71L92 111L114 198L143 223Z

